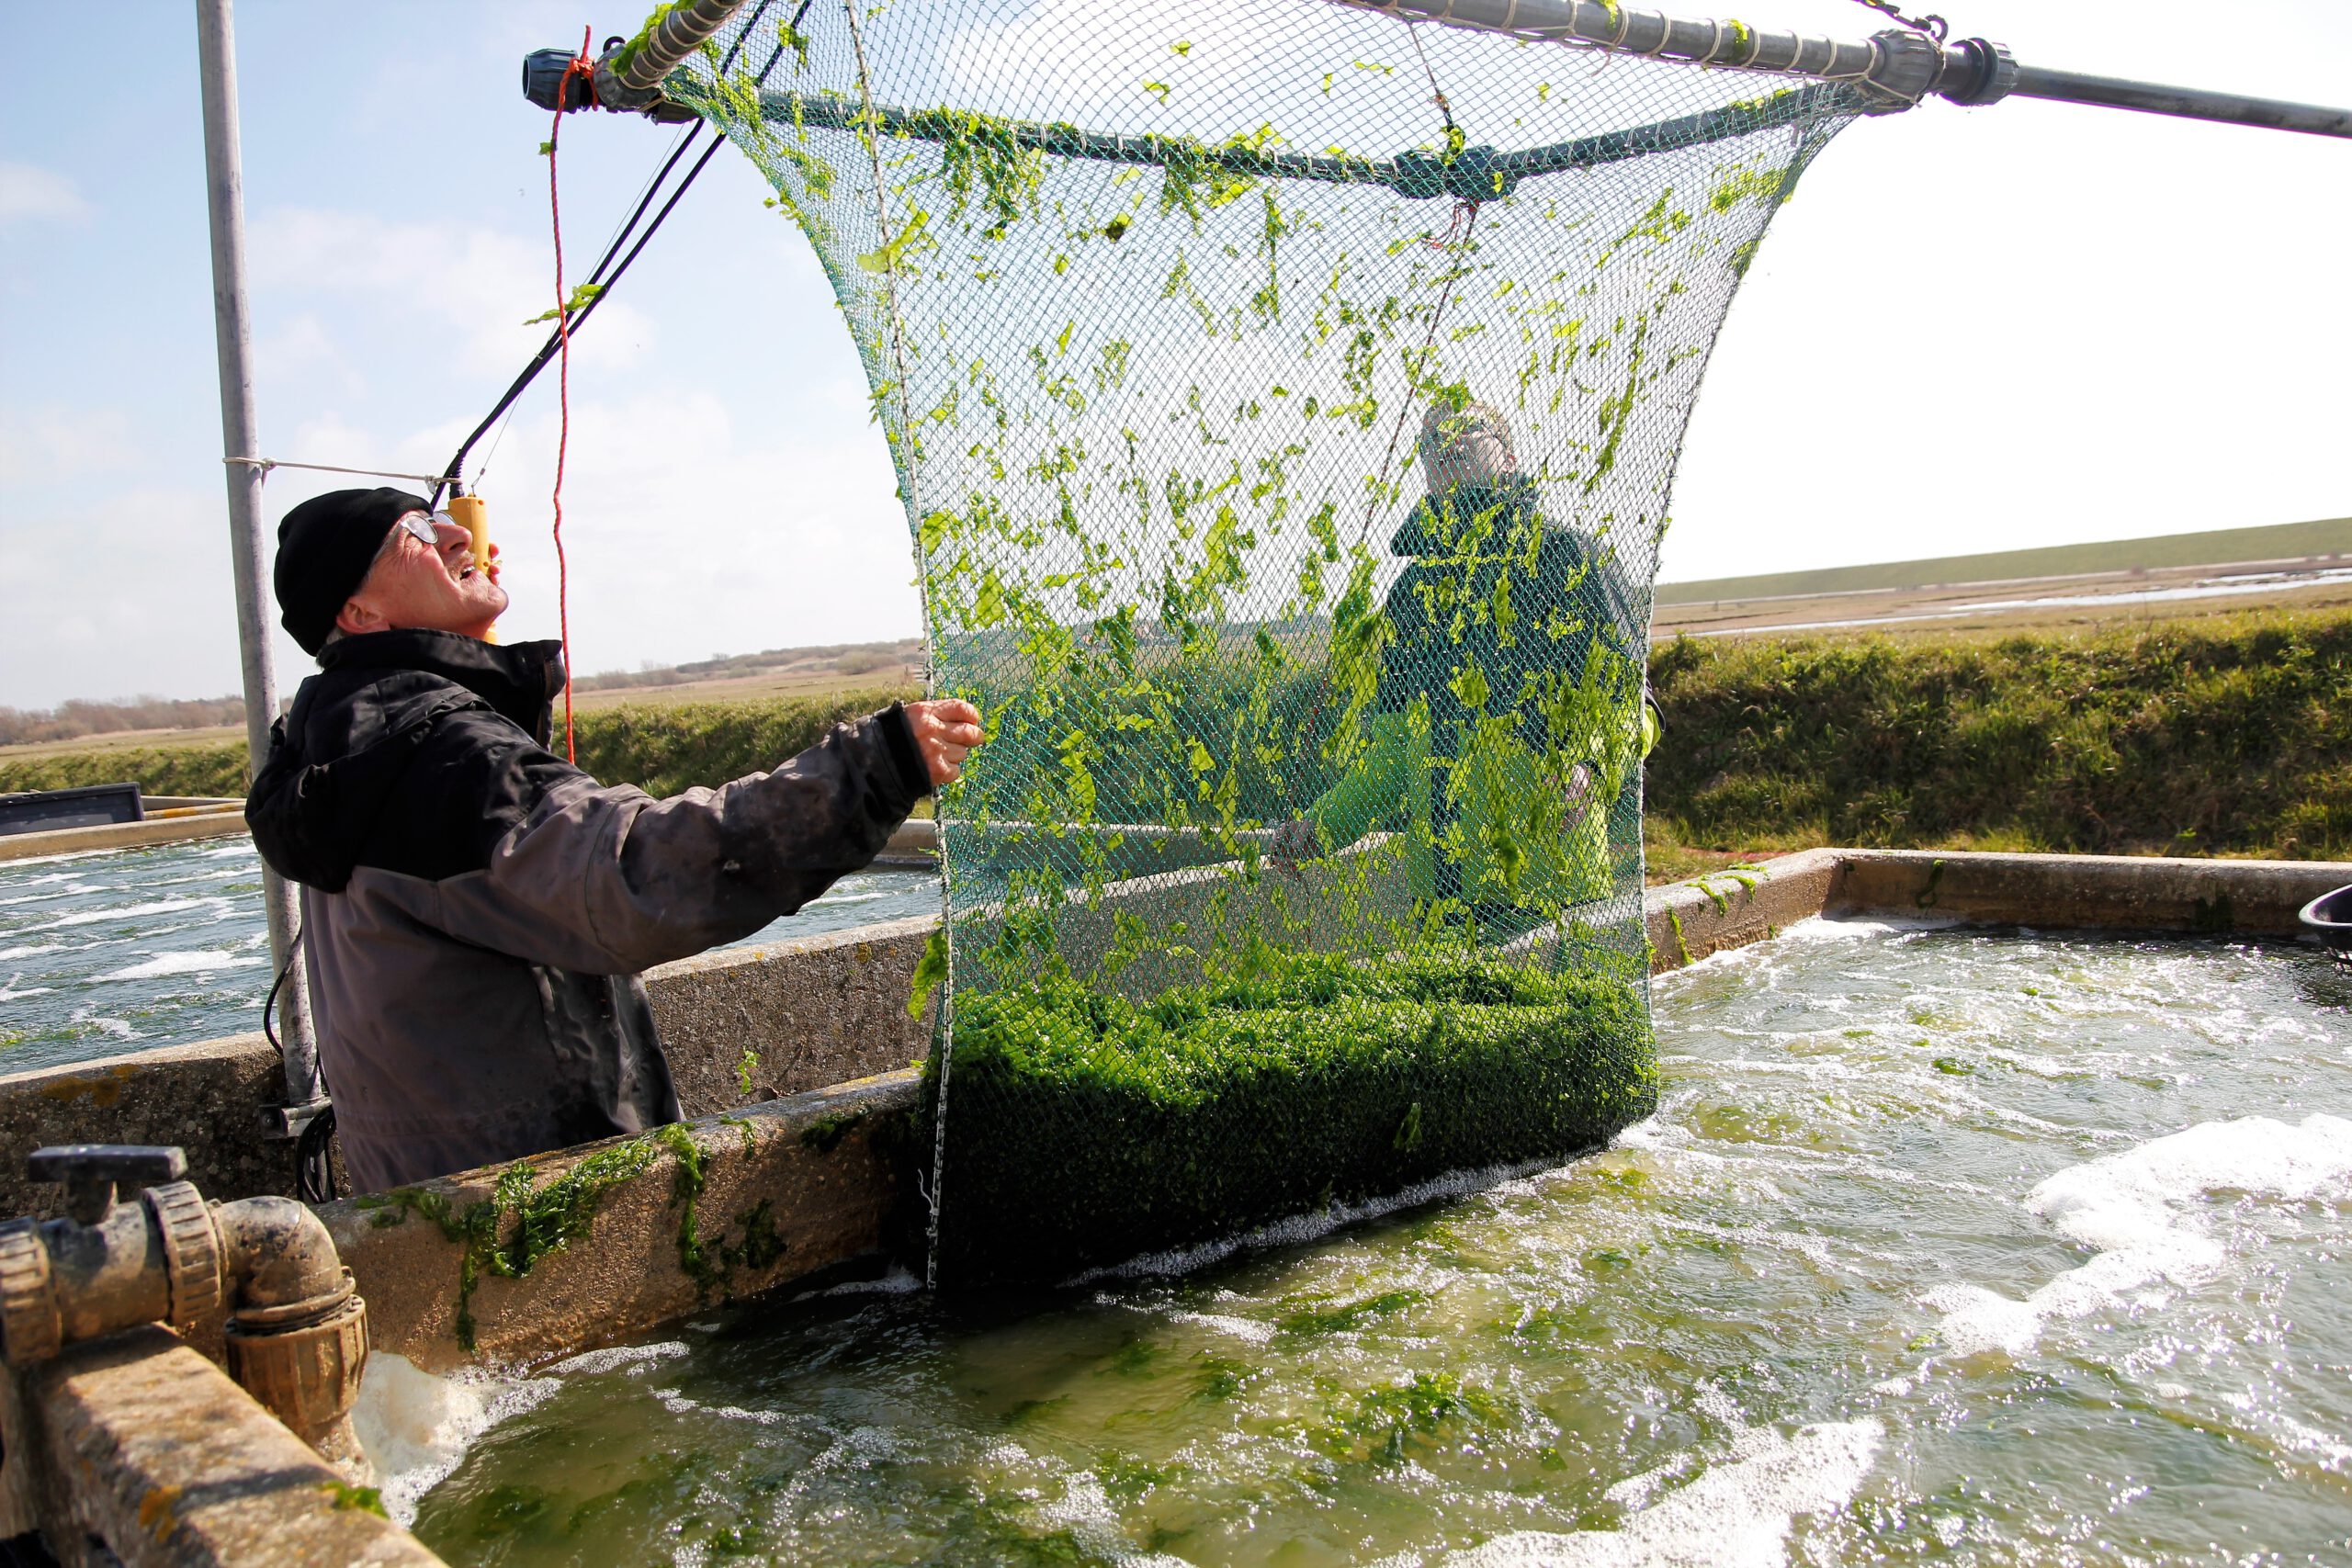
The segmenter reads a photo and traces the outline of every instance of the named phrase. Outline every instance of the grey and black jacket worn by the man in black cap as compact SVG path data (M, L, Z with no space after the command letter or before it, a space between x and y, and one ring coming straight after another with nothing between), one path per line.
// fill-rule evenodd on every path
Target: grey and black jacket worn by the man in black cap
M654 799L548 752L553 642L327 646L245 816L303 886L303 961L360 1192L675 1121L637 971L868 865L929 792L891 705L774 773Z

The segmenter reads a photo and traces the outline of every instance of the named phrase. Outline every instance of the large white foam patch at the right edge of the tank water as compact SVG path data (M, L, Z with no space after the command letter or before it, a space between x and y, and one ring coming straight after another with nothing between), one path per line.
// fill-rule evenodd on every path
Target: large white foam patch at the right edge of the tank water
M2352 1197L2352 1121L2201 1121L2051 1175L2025 1194L2025 1208L2096 1258L2025 1300L1973 1284L1938 1286L1929 1307L1945 1314L1945 1352L2020 1356L2053 1319L2161 1300L2223 1276L2230 1248L2206 1229L2204 1204L2223 1192L2288 1204Z

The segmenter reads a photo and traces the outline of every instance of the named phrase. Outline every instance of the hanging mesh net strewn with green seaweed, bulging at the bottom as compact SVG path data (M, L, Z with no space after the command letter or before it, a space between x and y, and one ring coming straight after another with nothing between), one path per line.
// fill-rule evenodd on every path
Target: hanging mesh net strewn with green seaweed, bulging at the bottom
M823 256L934 689L988 715L920 980L934 1276L1646 1114L1675 454L1856 99L1317 0L755 7L670 94Z

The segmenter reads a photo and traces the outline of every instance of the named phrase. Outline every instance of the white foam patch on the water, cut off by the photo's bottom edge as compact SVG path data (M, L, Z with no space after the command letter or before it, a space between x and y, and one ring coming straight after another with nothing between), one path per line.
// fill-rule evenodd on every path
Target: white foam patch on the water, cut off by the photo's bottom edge
M1846 1507L1884 1439L1875 1420L1797 1427L1788 1436L1740 1427L1729 1462L1710 1465L1613 1530L1515 1530L1446 1561L1454 1568L1785 1568L1797 1516ZM1661 1472L1649 1476L1642 1495Z

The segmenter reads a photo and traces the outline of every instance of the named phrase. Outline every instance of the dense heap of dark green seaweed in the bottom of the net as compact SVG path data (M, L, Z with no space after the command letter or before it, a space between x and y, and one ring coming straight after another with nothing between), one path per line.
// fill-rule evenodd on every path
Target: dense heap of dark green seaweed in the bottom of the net
M1449 1171L1557 1159L1656 1105L1649 1013L1623 966L1277 964L1150 1004L1070 980L960 997L941 1279L1051 1281Z

